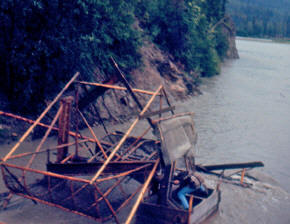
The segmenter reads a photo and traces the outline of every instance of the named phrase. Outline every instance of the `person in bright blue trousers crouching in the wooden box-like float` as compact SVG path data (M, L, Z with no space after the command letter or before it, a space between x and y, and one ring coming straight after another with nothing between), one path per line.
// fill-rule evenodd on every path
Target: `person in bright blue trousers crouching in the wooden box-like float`
M194 191L202 191L208 194L207 187L204 184L204 179L197 172L189 174L187 171L180 173L176 180L173 181L174 184L179 184L177 190L177 197L180 200L184 209L189 208L189 204L186 198L186 194L193 193Z

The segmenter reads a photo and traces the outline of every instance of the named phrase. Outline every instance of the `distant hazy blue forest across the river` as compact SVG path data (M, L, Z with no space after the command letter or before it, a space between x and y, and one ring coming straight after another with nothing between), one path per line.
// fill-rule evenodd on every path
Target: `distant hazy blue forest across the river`
M238 36L290 38L289 0L228 0Z

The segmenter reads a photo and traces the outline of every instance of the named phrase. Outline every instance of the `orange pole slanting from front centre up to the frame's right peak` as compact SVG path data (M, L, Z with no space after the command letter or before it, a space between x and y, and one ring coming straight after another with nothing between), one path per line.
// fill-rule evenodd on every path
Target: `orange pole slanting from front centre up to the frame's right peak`
M161 89L162 89L162 85L159 86L159 88L156 90L156 92L154 93L154 95L151 97L151 99L148 101L148 103L146 104L146 106L141 111L140 115L143 115L148 110L148 108L150 107L150 105L152 104L153 100L155 99L155 97L157 96L157 94L160 92ZM136 118L136 120L133 122L133 124L131 125L131 127L128 129L128 131L126 132L126 134L120 140L119 144L113 149L113 151L111 152L111 154L109 155L109 157L107 158L107 160L104 162L103 166L98 170L98 172L96 173L96 175L91 179L91 181L90 181L91 184L93 184L94 181L104 171L104 169L106 168L106 166L108 165L108 163L112 160L112 158L114 157L114 155L116 154L116 152L121 148L122 144L125 142L125 140L129 136L129 134L132 132L132 130L134 129L134 127L136 126L136 124L138 123L138 121L139 121L139 117Z

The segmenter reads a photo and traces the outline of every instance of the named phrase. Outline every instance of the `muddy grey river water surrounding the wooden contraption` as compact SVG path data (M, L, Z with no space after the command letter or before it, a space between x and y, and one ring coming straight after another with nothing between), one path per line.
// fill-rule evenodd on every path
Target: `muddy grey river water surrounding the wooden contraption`
M250 188L222 183L222 201L207 223L290 223L290 45L237 40L239 60L227 61L219 76L204 79L203 94L175 103L194 111L197 162L263 161L250 174ZM119 126L126 130L129 124ZM140 129L141 130L141 129ZM138 130L137 130L138 131ZM55 139L49 139L48 144ZM27 143L28 150L34 142ZM1 156L10 148L1 146ZM0 181L0 192L5 191ZM87 218L15 197L0 211L5 223L95 223Z

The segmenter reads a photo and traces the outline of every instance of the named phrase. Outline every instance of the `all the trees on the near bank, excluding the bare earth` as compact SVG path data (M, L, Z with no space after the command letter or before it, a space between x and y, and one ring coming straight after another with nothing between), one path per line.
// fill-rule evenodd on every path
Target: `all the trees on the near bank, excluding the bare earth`
M149 39L202 76L218 74L227 40L219 26L226 0L2 0L0 88L11 110L38 113L75 71L89 80L128 74Z

